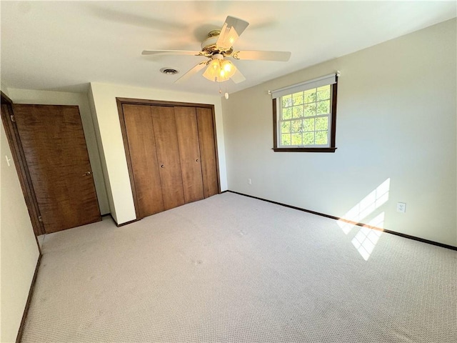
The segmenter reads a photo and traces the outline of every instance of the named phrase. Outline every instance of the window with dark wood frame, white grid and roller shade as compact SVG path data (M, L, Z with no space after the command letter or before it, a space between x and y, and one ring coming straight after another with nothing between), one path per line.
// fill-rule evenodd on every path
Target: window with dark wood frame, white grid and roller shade
M338 74L272 91L274 151L334 152Z

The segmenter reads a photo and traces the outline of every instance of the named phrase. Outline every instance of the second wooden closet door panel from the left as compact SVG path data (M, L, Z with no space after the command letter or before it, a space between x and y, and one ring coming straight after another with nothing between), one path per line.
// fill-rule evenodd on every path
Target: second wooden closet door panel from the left
M151 113L164 209L172 209L185 203L174 108L151 106Z

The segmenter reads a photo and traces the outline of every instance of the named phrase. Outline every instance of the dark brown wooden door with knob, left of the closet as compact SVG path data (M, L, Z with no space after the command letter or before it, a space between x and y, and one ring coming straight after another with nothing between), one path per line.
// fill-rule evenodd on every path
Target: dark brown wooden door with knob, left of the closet
M46 233L100 221L78 106L13 111Z

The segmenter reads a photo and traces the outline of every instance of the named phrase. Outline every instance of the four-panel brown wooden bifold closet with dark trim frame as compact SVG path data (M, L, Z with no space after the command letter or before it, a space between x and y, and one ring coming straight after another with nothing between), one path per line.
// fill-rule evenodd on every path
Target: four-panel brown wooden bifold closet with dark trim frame
M136 219L219 193L212 105L117 101Z

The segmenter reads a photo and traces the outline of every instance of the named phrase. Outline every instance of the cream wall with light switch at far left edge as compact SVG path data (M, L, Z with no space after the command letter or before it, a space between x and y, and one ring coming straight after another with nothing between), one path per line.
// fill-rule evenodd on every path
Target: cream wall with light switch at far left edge
M0 342L15 342L29 297L39 249L4 126L2 123L0 126ZM6 158L10 160L10 165Z

